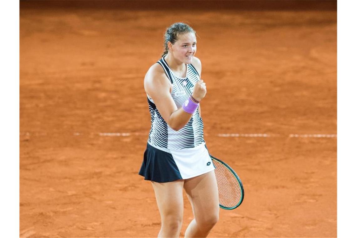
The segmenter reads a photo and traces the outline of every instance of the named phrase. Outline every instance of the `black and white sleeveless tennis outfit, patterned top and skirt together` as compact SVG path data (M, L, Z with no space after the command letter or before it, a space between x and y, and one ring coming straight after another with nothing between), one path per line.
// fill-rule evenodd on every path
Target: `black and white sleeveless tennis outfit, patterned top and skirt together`
M200 80L200 76L192 64L186 65L186 77L181 78L171 71L164 57L157 63L164 68L171 81L171 96L177 108L181 108L192 94L193 85ZM145 180L171 182L192 178L215 169L203 140L203 122L198 108L186 126L175 131L167 125L149 96L147 102L151 114L151 130L139 171Z

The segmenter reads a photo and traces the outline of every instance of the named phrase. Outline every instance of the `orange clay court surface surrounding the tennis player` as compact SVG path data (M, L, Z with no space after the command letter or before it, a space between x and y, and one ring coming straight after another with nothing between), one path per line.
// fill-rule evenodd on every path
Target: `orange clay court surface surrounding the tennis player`
M143 79L166 27L186 21L207 83L207 147L245 188L209 237L336 237L337 139L302 136L337 133L336 15L21 9L20 236L157 236L154 191L137 174ZM193 218L183 196L181 236Z

